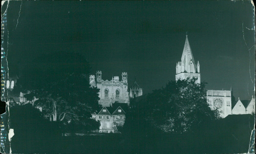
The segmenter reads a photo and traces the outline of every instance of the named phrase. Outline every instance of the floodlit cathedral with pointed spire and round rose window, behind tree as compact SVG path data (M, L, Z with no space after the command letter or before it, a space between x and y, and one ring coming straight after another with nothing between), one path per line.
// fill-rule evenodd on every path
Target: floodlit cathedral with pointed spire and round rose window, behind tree
M176 81L196 77L200 84L200 65L195 63L192 50L188 42L188 35L181 56L181 61L176 63ZM233 90L207 90L206 99L212 110L218 109L220 116L225 118L231 114L255 114L255 100L234 101Z

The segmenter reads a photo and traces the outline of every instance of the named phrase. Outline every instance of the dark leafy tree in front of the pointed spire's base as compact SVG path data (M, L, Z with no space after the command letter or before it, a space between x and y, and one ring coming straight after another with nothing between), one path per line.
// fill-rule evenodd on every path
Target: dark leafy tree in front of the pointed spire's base
M218 119L219 111L211 110L205 98L206 83L197 84L196 80L170 81L145 99L131 101L131 112L140 114L156 129L174 133L192 131L203 122Z

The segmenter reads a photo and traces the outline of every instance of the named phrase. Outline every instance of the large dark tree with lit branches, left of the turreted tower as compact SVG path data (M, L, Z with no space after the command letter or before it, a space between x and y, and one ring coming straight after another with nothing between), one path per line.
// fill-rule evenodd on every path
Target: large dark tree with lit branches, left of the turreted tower
M100 108L99 89L90 88L87 81L90 69L79 53L45 54L24 67L14 91L25 93L27 100L42 108L45 118L79 122L97 129L99 123L95 125L90 117Z

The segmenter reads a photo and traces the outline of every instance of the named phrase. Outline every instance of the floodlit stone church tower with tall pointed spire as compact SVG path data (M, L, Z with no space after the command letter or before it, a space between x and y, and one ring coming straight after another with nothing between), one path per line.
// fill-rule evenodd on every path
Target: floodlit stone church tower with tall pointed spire
M186 41L183 49L183 53L181 56L181 61L176 63L176 81L179 79L184 80L187 78L196 77L196 83L201 82L200 80L200 65L199 61L197 64L195 63L189 42L188 42L188 35L186 35Z

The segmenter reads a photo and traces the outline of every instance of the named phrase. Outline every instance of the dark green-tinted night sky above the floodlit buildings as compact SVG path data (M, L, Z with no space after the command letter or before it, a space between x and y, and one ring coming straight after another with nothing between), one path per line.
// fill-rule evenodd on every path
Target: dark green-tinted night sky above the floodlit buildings
M207 89L232 86L236 99L250 99L253 12L250 1L9 1L3 46L10 74L45 53L80 52L92 73L127 72L129 87L136 77L146 94L175 80L188 32Z

